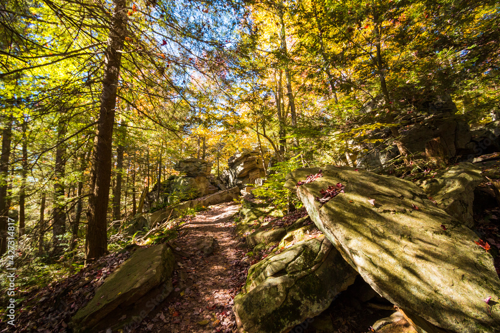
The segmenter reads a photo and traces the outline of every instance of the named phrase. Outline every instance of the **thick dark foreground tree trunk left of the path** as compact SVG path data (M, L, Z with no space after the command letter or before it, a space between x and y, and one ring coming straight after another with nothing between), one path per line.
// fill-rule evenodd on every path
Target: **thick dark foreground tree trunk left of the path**
M127 20L125 1L113 0L113 2L114 12L109 30L109 45L105 51L107 63L102 82L97 135L92 155L85 263L92 262L107 252L106 221L111 179L111 141L121 50L123 49Z

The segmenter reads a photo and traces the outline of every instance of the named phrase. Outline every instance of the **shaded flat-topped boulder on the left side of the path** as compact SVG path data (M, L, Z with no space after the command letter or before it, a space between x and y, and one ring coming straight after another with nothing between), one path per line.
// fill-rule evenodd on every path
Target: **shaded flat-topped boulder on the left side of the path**
M76 312L70 322L73 332L114 331L140 323L173 290L173 265L165 244L136 250Z

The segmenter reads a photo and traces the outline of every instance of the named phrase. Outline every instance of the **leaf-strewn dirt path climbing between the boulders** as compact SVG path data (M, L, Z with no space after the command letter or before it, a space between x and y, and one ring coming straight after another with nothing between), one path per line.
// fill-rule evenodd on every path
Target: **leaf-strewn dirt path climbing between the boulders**
M234 332L232 299L246 277L233 229L235 203L211 206L180 229L171 245L176 252L174 292L133 332ZM212 236L214 251L204 256L196 242Z

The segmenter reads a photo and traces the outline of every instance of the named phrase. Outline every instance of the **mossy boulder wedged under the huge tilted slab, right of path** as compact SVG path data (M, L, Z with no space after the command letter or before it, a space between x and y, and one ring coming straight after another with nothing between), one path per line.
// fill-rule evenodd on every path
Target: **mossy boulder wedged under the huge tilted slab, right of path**
M356 275L324 236L269 255L250 267L243 292L234 298L238 327L287 332L328 308Z

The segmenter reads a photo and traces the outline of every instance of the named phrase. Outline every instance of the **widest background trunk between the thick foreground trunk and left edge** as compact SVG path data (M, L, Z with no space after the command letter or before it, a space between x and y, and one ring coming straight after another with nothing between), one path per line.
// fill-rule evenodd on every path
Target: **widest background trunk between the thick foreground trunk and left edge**
M66 166L66 144L63 142L66 135L66 119L61 114L57 125L57 147L55 149L54 166L54 196L53 196L53 223L52 223L52 243L54 247L59 246L61 237L66 232L66 213L64 204L64 168Z

